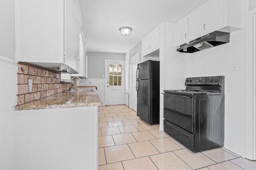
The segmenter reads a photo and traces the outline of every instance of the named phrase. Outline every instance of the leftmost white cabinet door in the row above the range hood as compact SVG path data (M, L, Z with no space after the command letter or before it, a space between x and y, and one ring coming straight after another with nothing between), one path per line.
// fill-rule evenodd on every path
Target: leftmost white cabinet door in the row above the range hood
M176 24L176 46L188 41L188 18Z

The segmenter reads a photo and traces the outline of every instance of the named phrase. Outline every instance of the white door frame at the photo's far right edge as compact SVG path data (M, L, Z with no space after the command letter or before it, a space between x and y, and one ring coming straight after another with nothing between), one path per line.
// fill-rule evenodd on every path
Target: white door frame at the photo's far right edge
M256 160L256 9L250 10L246 24L245 157Z

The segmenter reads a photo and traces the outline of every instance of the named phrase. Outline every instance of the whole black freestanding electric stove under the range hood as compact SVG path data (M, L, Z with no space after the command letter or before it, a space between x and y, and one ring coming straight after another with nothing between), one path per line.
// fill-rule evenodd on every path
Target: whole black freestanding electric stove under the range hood
M224 146L224 76L186 78L164 90L164 132L200 152Z

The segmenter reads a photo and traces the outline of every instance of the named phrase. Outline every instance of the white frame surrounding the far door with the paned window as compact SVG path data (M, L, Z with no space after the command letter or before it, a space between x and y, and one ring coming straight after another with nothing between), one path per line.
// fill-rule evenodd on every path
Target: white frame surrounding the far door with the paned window
M123 101L125 101L124 100L124 98L125 98L125 61L124 60L105 60L105 105L107 106L108 105L108 103L107 103L107 86L108 86L108 83L107 83L107 72L109 71L109 70L107 70L107 68L106 68L106 64L107 64L107 62L118 62L118 63L122 63L122 92L123 92ZM125 104L124 102L123 102L123 104Z

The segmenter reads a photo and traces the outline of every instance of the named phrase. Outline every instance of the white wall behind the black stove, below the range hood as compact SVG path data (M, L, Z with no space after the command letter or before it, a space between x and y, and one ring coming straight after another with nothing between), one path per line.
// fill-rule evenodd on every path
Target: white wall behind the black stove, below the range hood
M186 77L225 76L225 147L245 155L245 28L230 43L186 55ZM231 64L238 70L232 71Z

